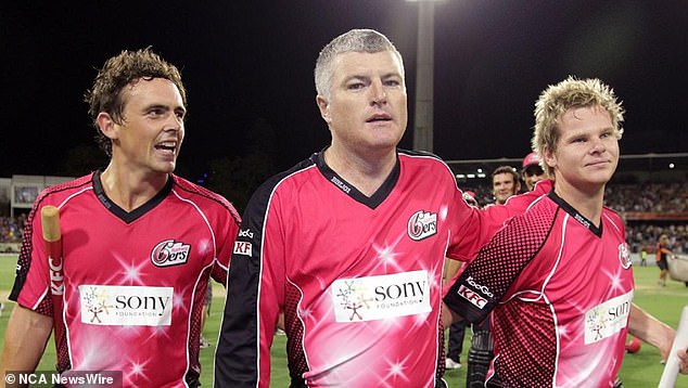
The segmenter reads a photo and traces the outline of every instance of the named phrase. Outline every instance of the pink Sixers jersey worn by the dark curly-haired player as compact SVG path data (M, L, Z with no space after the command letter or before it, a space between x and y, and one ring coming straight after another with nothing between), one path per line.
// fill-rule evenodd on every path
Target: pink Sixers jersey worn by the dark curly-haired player
M226 282L239 217L221 196L171 176L126 212L100 173L47 189L25 232L11 298L52 315L39 210L60 208L66 327L59 370L122 371L125 386L198 383L200 319L212 275ZM186 383L184 383L186 381Z

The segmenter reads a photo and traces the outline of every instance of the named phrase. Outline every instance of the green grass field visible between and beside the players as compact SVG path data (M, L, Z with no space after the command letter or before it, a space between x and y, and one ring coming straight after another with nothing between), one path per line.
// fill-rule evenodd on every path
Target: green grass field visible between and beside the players
M7 297L14 279L14 266L16 258L14 256L0 256L0 300L5 301L5 310L0 318L0 341L4 341L4 331L8 323L12 302L7 302ZM635 267L636 276L636 297L635 301L642 309L652 313L654 316L666 322L672 327L678 324L680 310L688 303L688 287L683 283L668 282L666 287L657 285L658 269L651 267ZM204 335L211 339L213 347L201 350L201 363L203 365L203 374L201 383L204 387L211 387L213 377L213 355L215 345L217 344L217 333L219 331L219 322L224 305L224 288L217 284L214 285L213 306L211 318L206 323ZM467 359L468 340L470 335L467 334L463 354L461 360ZM289 373L286 372L284 336L276 336L272 346L272 387L288 387ZM46 354L43 355L39 370L53 370L54 348L52 342L48 345ZM657 387L662 375L663 365L660 364L659 351L649 345L642 346L641 350L635 354L626 354L624 364L621 370L621 377L625 388L648 388ZM466 366L460 370L448 371L446 379L449 386L466 386ZM688 388L688 376L679 376L676 384L678 388Z

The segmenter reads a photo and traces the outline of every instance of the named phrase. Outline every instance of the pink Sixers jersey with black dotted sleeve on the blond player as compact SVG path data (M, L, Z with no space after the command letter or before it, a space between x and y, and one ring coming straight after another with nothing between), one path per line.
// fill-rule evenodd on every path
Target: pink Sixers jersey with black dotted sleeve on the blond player
M612 387L633 287L619 215L604 208L596 228L552 191L481 249L445 302L471 322L493 312L490 373L505 387Z

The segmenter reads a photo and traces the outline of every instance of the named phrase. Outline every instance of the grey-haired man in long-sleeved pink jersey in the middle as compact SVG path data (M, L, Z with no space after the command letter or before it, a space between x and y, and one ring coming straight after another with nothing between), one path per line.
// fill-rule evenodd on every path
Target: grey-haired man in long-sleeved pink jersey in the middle
M265 182L244 211L215 386L269 386L283 312L292 387L442 387L445 257L474 257L538 194L480 210L437 156L397 148L405 73L384 35L336 37L315 79L331 143Z

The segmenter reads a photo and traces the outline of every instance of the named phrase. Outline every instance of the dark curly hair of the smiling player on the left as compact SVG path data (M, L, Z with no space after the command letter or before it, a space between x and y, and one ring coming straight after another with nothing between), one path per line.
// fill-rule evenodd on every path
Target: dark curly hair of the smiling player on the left
M112 141L100 131L98 115L105 112L115 122L122 124L126 104L124 88L139 79L153 78L171 81L179 89L183 105L187 106L187 91L181 82L181 74L150 47L138 51L124 50L119 55L107 60L95 76L93 88L86 91L84 101L89 105L88 113L95 128L95 142L107 156L112 156Z

